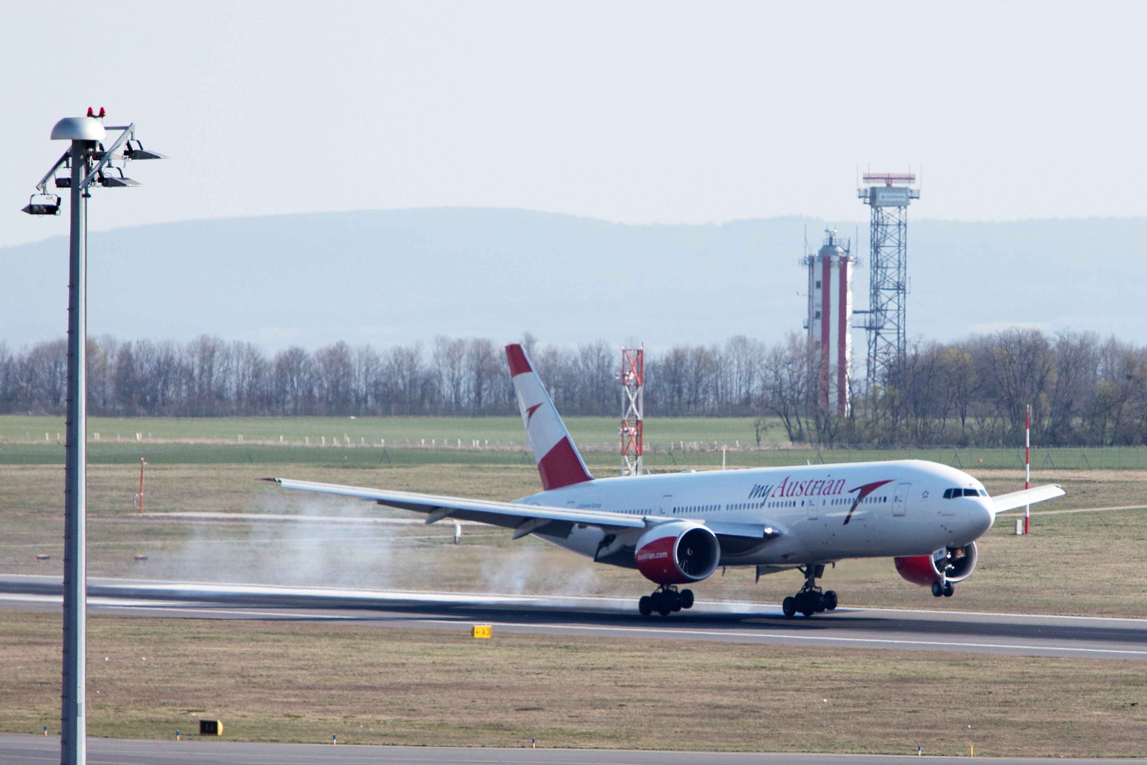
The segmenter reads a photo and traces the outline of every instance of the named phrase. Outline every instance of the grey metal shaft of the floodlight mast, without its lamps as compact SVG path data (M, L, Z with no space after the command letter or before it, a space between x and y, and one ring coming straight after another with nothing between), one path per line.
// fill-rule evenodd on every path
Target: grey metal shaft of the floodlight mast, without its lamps
M72 141L64 462L64 646L60 762L87 763L87 174L92 141Z

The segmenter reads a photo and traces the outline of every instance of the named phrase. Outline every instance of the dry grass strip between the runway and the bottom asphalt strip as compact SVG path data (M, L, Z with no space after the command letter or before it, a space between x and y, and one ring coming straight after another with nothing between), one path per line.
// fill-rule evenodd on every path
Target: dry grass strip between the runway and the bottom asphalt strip
M58 620L0 620L0 729L58 729ZM95 736L206 717L233 740L413 746L1133 757L1147 737L1137 662L108 616L88 634Z

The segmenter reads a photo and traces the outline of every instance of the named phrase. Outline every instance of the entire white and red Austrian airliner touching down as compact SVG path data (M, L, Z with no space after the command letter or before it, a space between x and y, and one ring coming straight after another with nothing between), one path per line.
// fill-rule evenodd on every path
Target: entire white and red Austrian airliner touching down
M525 350L506 346L514 392L543 491L512 502L266 478L283 489L356 497L443 518L533 534L598 563L637 569L657 585L642 616L693 606L694 584L719 567L762 575L799 570L786 617L830 611L817 579L844 559L892 557L902 577L952 596L976 568L976 542L1005 510L1062 497L1056 484L990 497L955 468L891 460L594 478Z

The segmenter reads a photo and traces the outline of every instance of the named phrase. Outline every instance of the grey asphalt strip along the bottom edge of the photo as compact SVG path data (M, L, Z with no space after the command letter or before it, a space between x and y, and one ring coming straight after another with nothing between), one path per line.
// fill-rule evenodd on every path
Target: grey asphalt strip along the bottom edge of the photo
M0 765L29 765L60 762L58 736L0 734ZM927 762L955 765L967 757L915 757L904 755L820 755L820 754L750 754L696 751L625 751L616 749L445 749L432 747L362 747L331 744L242 743L234 741L147 741L125 739L88 739L87 762L91 765L279 765L305 763L338 765L341 763L380 763L414 765L452 763L458 765L887 765ZM1070 765L1106 765L1125 759L1061 759L1006 757L992 759L1001 765L1044 765L1048 762Z

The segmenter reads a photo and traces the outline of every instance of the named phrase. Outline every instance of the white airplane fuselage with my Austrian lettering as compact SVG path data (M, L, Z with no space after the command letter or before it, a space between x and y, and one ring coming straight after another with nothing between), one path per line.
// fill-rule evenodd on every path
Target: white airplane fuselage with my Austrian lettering
M958 495L945 498L945 492ZM955 468L922 460L600 478L518 502L696 521L715 528L723 522L767 524L780 531L775 539L746 552L723 547L721 565L927 555L972 542L994 520L983 484ZM642 533L623 530L617 542L634 545ZM575 526L568 537L538 536L592 557L604 534L594 526Z

